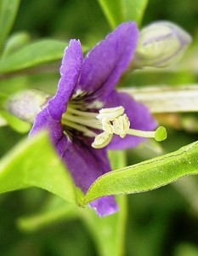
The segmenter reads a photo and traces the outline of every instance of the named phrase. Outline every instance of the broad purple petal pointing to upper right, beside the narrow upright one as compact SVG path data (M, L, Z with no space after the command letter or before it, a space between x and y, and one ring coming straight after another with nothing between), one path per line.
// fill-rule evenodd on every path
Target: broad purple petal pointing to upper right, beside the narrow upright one
M137 41L135 22L118 26L88 53L78 89L94 92L94 96L107 95L127 68Z

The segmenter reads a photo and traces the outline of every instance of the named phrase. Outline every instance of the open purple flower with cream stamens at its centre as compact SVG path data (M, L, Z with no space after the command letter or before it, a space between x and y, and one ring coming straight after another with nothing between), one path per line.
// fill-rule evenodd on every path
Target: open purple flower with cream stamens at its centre
M129 126L143 132L156 127L144 105L115 90L132 60L138 34L134 22L123 23L85 58L80 42L71 40L56 95L37 114L31 129L33 134L48 128L59 156L84 193L99 176L110 172L108 148L130 148L143 140L130 135ZM90 206L99 216L118 210L113 195L96 199Z

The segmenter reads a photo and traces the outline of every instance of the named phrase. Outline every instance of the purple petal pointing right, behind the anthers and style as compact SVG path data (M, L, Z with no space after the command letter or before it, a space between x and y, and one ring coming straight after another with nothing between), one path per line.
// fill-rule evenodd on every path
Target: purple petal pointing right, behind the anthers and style
M122 106L125 108L125 113L130 120L130 128L153 131L156 128L156 121L150 114L149 108L144 104L136 102L132 96L127 93L113 91L108 96L108 101L105 103L104 108L112 108ZM108 149L124 149L132 148L139 143L143 142L144 138L127 135L123 139L118 135L114 135L112 141L108 145Z

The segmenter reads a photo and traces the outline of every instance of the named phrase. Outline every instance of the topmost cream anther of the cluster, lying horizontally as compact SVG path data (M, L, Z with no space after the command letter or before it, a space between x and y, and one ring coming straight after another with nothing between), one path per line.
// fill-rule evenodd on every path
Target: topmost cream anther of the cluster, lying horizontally
M124 113L124 108L122 106L116 108L102 108L99 110L99 114L97 115L97 119L108 119L109 121L113 121L118 116Z

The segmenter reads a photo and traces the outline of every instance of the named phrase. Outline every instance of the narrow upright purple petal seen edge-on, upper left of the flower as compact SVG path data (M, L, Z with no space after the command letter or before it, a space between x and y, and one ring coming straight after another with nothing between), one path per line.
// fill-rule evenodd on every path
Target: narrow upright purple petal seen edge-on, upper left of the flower
M48 111L55 120L60 120L65 112L67 102L78 83L82 69L82 47L80 41L71 40L65 49L62 66L60 67L61 79L54 98L48 102Z

